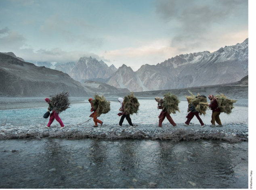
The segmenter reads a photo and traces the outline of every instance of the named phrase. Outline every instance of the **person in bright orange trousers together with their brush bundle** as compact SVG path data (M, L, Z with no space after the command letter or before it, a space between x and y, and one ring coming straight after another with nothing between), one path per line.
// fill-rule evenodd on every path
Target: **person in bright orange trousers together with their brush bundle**
M93 118L94 127L98 127L98 123L103 126L103 122L97 118L101 114L107 114L110 111L110 102L104 96L94 95L94 99L90 98L88 101L91 103L90 111L93 112L90 117Z

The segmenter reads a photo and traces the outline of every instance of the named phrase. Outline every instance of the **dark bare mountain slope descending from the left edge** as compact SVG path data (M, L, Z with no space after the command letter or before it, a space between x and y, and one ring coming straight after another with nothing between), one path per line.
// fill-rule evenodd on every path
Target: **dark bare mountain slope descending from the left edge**
M0 54L0 81L1 96L48 97L62 91L69 91L73 97L87 95L81 84L69 75L5 54Z

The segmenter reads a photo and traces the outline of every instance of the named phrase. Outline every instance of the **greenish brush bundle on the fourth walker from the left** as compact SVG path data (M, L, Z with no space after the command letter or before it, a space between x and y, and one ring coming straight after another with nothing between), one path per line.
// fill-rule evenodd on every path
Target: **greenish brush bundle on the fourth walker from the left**
M178 104L180 103L178 97L170 92L164 94L162 106L166 109L168 114L176 114L176 111L180 112Z

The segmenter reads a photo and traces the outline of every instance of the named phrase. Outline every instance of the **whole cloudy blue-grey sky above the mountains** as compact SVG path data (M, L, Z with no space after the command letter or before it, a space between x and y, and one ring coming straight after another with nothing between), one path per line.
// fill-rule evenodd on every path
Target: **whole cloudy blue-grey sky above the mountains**
M250 0L249 0L250 3ZM248 0L0 0L0 52L134 71L248 38Z

